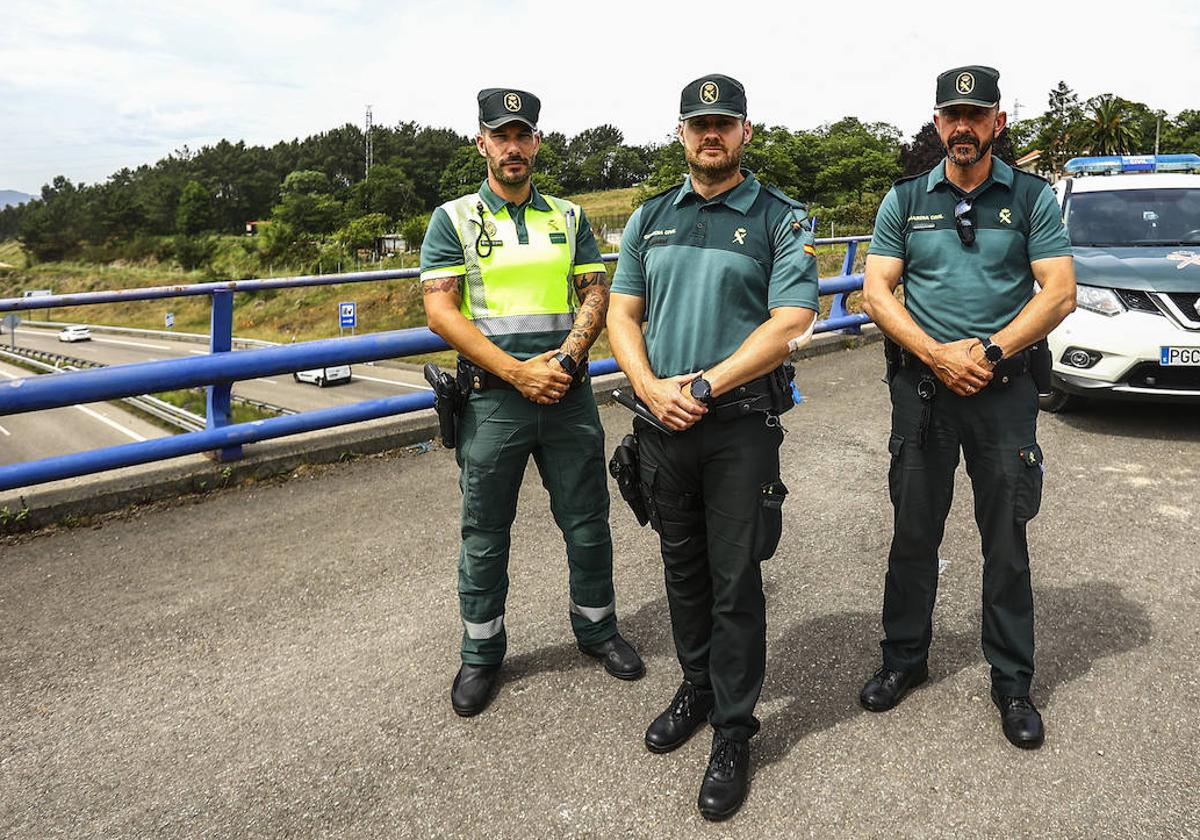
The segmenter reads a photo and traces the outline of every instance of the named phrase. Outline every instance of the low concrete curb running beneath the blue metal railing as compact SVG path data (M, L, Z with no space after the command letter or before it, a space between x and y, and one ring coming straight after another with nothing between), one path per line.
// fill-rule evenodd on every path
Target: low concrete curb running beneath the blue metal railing
M793 359L818 358L875 343L881 338L878 329L868 324L860 336L817 336L796 353ZM612 402L613 389L625 384L628 380L624 373L611 373L593 379L592 391L598 403L606 404ZM72 526L86 517L114 514L136 505L284 475L307 464L336 463L421 443L433 446L437 445L433 443L437 428L433 410L425 409L397 418L252 444L251 455L229 463L193 455L173 460L169 464L143 464L98 476L18 488L0 494L0 511L8 511L0 518L0 534L36 530L52 524ZM16 520L18 514L19 521Z

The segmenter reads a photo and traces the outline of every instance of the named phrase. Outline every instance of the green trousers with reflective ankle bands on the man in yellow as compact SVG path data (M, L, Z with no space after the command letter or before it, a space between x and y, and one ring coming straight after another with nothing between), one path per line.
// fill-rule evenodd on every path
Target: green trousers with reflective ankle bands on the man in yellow
M596 644L616 635L608 479L592 389L575 388L553 406L539 406L508 388L474 391L455 452L462 470L462 661L498 665L504 659L509 530L530 455L566 541L575 637Z

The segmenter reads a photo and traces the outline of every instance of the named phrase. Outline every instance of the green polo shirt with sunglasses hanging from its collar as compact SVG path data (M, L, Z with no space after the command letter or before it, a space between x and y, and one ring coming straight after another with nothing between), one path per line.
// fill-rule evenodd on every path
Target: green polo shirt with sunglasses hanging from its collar
M954 227L954 206L971 200L973 245ZM896 181L880 205L871 253L904 260L905 306L938 342L986 338L1033 296L1030 263L1069 257L1070 240L1050 185L992 157L971 193L946 180L943 160Z

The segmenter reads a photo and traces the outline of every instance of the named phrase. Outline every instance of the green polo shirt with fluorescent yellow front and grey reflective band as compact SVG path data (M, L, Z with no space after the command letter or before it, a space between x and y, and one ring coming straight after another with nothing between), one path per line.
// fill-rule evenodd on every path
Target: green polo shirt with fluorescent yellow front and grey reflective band
M466 276L463 314L517 359L559 347L574 320L571 277L605 270L583 210L544 197L538 187L532 187L524 204L516 205L497 196L487 181L479 188L479 203L482 216L470 208L462 238L446 210L454 203L433 211L421 242L421 280ZM476 252L480 226L485 235ZM568 241L572 227L574 248ZM474 278L468 262L476 266Z

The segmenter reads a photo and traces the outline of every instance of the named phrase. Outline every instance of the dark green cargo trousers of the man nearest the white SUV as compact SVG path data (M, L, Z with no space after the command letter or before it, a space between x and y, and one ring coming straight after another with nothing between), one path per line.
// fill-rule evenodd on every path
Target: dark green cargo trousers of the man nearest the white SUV
M1042 504L1038 396L1030 376L960 397L941 382L929 401L917 392L928 368L904 367L892 380L892 464L895 514L883 590L883 666L907 671L929 654L937 551L954 493L959 449L974 491L983 542L983 652L1001 694L1030 692L1033 679L1033 590L1025 528Z

